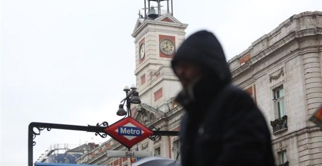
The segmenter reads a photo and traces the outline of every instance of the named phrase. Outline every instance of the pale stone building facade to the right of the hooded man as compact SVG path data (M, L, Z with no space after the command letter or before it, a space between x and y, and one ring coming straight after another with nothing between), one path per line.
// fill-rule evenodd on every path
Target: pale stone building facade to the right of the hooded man
M322 12L282 22L229 60L271 125L277 164L322 165L322 130L308 122L322 104Z

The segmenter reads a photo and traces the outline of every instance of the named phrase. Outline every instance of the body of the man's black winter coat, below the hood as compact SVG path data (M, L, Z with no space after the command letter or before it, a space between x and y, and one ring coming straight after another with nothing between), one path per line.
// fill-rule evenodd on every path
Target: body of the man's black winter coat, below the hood
M274 166L270 133L251 97L231 85L219 93L207 107L186 107L206 111L181 120L182 166Z

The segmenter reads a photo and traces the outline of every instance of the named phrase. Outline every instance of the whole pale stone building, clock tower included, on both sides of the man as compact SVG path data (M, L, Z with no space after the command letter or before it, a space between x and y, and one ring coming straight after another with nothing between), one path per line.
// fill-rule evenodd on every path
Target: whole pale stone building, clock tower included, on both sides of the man
M132 36L136 45L137 87L142 103L133 117L153 129L179 131L182 106L173 101L181 86L171 70L172 50L185 28L171 13L139 19ZM322 12L304 12L282 22L240 55L228 61L233 83L247 91L262 110L272 133L278 165L322 165L322 129L308 118L322 104ZM129 166L129 158L108 158L106 150L127 150L110 139L83 155L78 163ZM145 139L132 150L177 159L178 136Z

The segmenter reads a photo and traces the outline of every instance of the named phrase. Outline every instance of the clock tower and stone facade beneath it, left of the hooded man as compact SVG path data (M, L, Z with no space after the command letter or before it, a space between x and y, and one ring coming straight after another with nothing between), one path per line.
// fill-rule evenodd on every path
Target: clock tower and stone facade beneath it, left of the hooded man
M150 3L150 1L148 0ZM168 0L160 0L167 2ZM152 1L151 1L152 3ZM136 87L140 94L141 104L131 104L131 114L152 130L179 131L182 106L174 102L181 84L172 71L171 59L176 49L185 39L188 24L181 23L169 10L158 10L155 17L141 16L134 27L132 37L135 39ZM172 5L171 5L172 8ZM154 10L154 9L153 9ZM149 13L151 13L150 8ZM153 12L152 12L153 13ZM106 157L106 150L128 150L117 141L110 139L97 149L83 155L78 163L109 166L129 166L130 158ZM178 136L161 136L145 139L132 149L151 151L153 156L178 159ZM134 159L135 160L135 159Z

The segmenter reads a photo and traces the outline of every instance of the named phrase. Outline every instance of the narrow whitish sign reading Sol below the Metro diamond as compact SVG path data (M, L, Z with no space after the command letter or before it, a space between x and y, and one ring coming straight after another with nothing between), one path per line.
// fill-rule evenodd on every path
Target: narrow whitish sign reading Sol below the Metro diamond
M124 151L124 150L106 150L107 157L150 157L152 151Z

